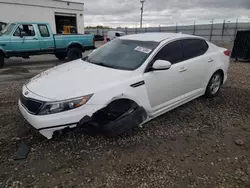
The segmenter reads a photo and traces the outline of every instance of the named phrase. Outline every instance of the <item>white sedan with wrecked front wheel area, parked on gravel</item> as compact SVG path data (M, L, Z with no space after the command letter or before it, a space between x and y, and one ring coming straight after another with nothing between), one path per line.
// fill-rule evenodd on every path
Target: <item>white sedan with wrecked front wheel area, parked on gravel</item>
M128 35L32 78L19 109L48 139L73 127L120 135L197 97L216 96L228 66L229 51L200 37Z

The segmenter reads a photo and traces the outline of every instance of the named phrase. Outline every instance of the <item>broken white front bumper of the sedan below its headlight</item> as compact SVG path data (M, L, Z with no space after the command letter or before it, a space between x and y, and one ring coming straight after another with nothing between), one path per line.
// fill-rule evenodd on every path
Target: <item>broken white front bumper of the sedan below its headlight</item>
M19 110L23 117L31 124L40 134L47 139L51 139L55 131L65 128L74 128L79 123L83 123L83 117L91 117L96 111L103 108L101 105L84 105L80 108L50 115L32 115L18 101Z

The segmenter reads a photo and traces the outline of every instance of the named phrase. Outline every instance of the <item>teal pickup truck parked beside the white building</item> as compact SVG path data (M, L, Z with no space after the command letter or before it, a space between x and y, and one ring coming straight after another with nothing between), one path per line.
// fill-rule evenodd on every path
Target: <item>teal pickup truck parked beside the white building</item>
M55 54L59 60L75 60L95 49L93 35L55 35L48 23L9 23L0 31L0 68L5 58Z

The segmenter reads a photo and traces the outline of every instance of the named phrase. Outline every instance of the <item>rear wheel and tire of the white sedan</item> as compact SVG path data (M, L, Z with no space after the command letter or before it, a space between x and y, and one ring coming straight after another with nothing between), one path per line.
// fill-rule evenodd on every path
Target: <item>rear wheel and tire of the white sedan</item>
M213 74L207 85L205 96L207 98L213 98L218 95L221 85L223 83L223 75L220 71Z

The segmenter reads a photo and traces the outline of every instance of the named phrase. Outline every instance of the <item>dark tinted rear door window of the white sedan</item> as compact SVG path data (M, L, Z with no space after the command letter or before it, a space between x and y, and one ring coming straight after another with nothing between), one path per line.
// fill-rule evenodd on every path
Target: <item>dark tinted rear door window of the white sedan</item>
M183 40L183 58L185 60L198 57L206 53L208 45L201 39Z

